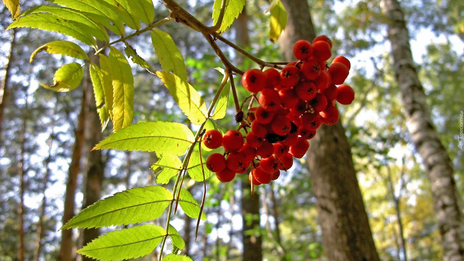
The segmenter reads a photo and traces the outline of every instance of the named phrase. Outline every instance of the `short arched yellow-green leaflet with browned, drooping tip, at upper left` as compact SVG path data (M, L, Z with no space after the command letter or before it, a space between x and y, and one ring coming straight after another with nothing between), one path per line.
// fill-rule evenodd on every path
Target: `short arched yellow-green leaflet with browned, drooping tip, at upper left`
M53 41L43 46L40 46L34 52L32 52L29 62L32 62L34 56L41 51L67 55L76 59L89 60L89 56L87 56L87 53L85 53L84 50L82 50L82 48L77 44L72 43L70 41Z

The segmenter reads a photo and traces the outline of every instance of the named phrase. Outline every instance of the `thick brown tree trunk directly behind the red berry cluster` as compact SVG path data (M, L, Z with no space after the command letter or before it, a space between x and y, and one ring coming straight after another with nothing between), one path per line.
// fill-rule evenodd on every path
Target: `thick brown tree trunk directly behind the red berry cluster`
M299 39L312 41L316 33L306 0L282 3L289 19L280 43L285 59L290 61L294 60L294 43ZM310 144L309 171L328 260L379 261L341 122L323 124Z

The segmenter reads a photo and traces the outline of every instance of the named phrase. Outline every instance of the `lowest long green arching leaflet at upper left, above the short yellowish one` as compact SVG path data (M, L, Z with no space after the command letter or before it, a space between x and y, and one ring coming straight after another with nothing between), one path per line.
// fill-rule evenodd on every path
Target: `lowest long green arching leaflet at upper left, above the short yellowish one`
M63 33L83 42L86 45L97 46L97 42L93 39L92 35L85 32L81 29L81 26L77 26L76 24L77 22L70 23L58 15L51 13L32 13L19 17L18 20L13 21L6 30L20 27L36 28L45 31Z

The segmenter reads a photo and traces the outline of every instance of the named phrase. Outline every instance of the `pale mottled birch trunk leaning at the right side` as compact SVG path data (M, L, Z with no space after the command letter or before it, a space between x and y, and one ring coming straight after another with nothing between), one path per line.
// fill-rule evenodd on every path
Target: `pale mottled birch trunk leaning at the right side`
M464 260L464 222L453 165L432 123L425 92L412 60L409 33L397 0L381 0L388 20L395 77L400 85L407 127L432 184L435 216L440 228L444 261Z

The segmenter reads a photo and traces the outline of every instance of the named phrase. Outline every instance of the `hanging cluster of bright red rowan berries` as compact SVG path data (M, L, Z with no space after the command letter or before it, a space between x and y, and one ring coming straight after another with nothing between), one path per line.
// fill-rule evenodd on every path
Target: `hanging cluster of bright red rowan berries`
M335 100L351 104L354 91L343 85L350 69L348 59L338 56L330 66L326 65L331 48L332 42L324 35L316 37L312 44L299 40L293 47L297 62L288 63L280 72L270 68L244 73L245 89L260 92L259 106L251 108L245 120L251 126L251 131L244 128L246 142L240 131L227 131L223 136L210 130L203 136L206 147L224 147L224 154L214 153L206 160L206 167L216 173L219 181L231 181L252 163L250 182L270 183L279 177L280 170L290 169L293 157L304 156L308 140L321 124L338 121Z

